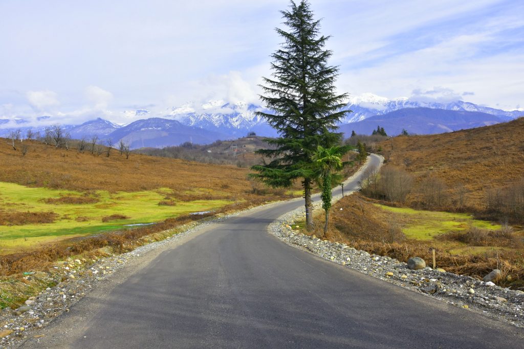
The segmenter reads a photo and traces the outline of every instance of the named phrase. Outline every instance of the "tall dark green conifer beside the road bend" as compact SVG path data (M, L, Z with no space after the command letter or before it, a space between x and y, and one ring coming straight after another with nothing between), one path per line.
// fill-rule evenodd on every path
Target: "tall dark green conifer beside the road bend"
M346 94L337 95L336 66L328 61L332 51L324 46L329 37L320 34L320 21L314 20L310 4L291 2L281 11L288 31L276 29L284 39L272 54L271 78L264 77L260 99L269 112L257 112L277 130L279 137L265 139L274 149L257 153L269 163L253 166L252 176L273 187L290 186L302 179L307 228L313 228L311 185L315 169L311 156L318 145L330 148L342 141L335 132L337 123L350 110L341 110Z

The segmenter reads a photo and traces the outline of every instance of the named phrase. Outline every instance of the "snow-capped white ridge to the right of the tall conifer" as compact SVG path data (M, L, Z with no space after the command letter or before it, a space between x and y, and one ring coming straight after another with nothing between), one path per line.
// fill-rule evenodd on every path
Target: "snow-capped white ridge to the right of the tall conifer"
M506 111L489 107L479 106L470 102L456 100L449 103L428 102L413 100L407 97L388 99L372 93L365 93L355 97L350 97L344 109L350 109L353 112L348 114L342 123L362 121L374 115L384 115L391 111L404 108L430 108L456 111L477 111L485 114L495 115L507 121L524 115L523 111L513 110Z

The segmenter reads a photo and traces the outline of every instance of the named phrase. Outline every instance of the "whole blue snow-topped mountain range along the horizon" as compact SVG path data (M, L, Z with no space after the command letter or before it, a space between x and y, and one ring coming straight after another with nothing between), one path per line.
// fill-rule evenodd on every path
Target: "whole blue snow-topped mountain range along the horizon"
M493 125L524 116L524 111L506 111L479 106L456 100L454 102L417 102L408 98L387 99L373 94L364 94L350 98L347 114L341 121L341 131L347 135L354 130L369 134L377 126L395 136L402 129L409 133L431 134L450 132L479 126ZM246 103L227 103L212 100L205 104L187 103L179 107L166 109L161 117L151 117L117 125L111 121L97 118L81 125L62 125L72 138L89 138L93 135L100 139L112 139L114 143L124 140L132 148L166 147L183 142L211 143L217 139L233 139L255 132L259 136L277 135L264 118L256 111L264 108ZM136 116L148 116L147 109L136 110ZM43 116L47 122L52 117ZM9 120L0 119L0 127ZM24 135L30 128L27 121L17 120L17 129ZM6 136L11 129L0 129L0 137ZM40 129L43 133L43 127Z

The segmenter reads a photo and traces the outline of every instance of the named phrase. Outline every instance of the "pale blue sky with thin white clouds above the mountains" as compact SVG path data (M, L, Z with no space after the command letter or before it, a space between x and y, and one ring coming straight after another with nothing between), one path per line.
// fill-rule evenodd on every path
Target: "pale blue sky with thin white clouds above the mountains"
M337 89L524 107L524 2L311 0ZM277 0L0 0L0 119L129 123L188 102L258 102ZM524 109L523 109L524 110ZM41 121L48 122L48 121Z

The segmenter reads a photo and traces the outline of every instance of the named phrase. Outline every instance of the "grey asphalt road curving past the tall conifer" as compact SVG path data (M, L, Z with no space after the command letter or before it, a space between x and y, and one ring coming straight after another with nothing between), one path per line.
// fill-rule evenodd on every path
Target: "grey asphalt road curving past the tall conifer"
M324 261L268 234L268 223L300 205L296 200L228 219L159 253L105 294L86 296L39 343L26 345L524 347L515 327Z

